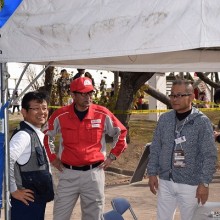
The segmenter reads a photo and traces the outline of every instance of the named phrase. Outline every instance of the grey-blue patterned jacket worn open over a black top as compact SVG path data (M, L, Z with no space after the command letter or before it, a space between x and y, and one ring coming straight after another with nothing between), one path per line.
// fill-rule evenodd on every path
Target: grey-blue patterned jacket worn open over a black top
M217 149L210 120L201 111L194 108L181 127L181 136L185 136L182 149L185 153L186 166L173 166L175 148L176 113L174 110L160 116L150 147L150 159L147 166L149 176L172 179L176 183L198 185L210 183L215 172Z

